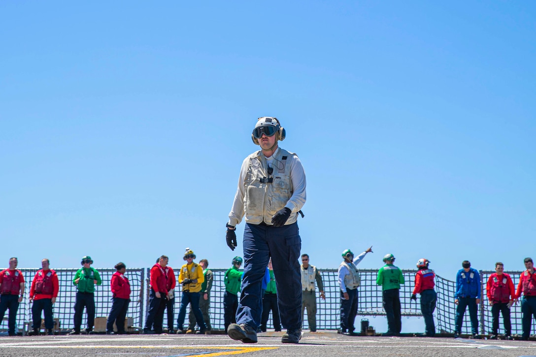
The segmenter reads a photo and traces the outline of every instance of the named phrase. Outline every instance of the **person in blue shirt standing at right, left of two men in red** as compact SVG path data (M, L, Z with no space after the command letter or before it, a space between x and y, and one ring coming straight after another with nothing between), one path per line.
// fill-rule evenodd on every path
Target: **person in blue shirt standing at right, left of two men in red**
M454 338L460 337L461 323L464 321L464 314L467 307L469 307L469 316L471 317L472 337L479 338L477 306L480 303L480 275L478 270L471 267L469 261L463 261L461 266L463 266L463 269L460 269L458 274L456 274L454 303L457 307Z

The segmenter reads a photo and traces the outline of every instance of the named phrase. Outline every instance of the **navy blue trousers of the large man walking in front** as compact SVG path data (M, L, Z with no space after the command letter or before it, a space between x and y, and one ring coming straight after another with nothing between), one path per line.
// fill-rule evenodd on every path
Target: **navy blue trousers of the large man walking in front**
M279 316L285 329L301 328L301 239L297 223L283 227L246 224L244 229L244 276L236 323L257 330L263 311L260 290L272 257Z

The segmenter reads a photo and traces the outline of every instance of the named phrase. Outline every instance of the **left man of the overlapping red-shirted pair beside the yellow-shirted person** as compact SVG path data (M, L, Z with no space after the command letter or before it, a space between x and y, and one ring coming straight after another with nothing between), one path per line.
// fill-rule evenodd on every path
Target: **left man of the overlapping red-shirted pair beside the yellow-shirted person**
M149 309L145 319L144 334L162 333L162 323L164 319L164 308L166 307L168 284L167 284L167 267L169 258L162 255L157 264L151 268L149 283L151 290L149 292ZM154 331L151 330L154 324Z

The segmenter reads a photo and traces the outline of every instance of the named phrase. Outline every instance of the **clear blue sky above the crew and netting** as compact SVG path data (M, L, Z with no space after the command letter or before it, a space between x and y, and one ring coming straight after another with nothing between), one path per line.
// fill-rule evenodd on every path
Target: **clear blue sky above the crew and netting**
M178 266L190 247L229 266L227 215L267 115L306 169L312 264L372 245L361 267L392 252L450 279L464 259L521 270L536 258L535 16L531 2L2 2L0 265Z

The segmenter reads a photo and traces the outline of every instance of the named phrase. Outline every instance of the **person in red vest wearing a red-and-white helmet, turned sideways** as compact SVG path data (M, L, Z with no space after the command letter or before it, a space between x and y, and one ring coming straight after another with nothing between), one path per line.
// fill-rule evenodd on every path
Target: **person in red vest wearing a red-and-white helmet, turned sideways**
M434 310L437 302L437 294L434 290L435 273L428 269L430 261L428 259L419 259L417 267L419 271L415 274L415 288L411 300L417 301L417 294L421 294L421 312L425 319L425 333L422 336L435 336Z

